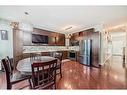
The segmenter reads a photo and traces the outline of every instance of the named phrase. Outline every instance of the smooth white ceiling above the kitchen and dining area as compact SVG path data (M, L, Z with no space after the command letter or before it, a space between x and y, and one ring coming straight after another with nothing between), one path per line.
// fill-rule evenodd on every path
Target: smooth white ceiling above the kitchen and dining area
M36 28L69 33L127 19L127 6L0 6L0 18L31 23Z

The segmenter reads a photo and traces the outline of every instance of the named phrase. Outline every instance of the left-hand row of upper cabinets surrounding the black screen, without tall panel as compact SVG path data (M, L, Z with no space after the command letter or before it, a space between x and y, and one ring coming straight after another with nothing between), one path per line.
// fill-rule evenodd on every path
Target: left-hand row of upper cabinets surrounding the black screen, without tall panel
M48 30L34 28L32 32L23 31L23 45L38 45L32 43L32 34L48 36L49 46L65 46L65 35ZM43 45L43 44L39 44Z

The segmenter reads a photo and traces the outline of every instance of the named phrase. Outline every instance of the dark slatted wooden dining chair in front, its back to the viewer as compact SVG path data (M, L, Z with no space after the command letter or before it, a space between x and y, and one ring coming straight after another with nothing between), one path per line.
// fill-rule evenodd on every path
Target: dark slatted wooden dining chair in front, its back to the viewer
M49 62L33 63L32 89L56 89L56 66L57 59Z

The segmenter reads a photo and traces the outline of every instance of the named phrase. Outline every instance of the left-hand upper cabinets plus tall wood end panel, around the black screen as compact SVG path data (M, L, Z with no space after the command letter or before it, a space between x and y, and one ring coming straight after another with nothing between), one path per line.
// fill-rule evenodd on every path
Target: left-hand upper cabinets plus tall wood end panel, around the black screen
M18 61L17 56L23 54L23 46L43 46L43 44L32 43L32 34L39 34L48 36L49 46L65 46L65 35L57 32L34 28L33 31L24 31L20 29L13 29L13 47L14 47L14 67ZM28 55L27 55L28 56ZM27 57L25 56L25 57Z

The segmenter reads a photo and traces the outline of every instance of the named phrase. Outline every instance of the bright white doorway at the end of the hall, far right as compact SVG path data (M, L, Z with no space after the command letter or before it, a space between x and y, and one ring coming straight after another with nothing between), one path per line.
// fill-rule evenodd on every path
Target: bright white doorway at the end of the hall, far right
M112 64L125 67L126 32L110 32L112 37Z

